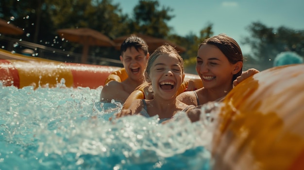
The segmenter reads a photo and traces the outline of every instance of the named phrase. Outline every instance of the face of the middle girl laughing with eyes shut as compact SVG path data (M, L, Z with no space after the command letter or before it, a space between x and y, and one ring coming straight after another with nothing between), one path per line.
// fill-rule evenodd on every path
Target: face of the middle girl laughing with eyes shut
M175 56L161 54L152 63L147 81L151 82L154 97L171 99L184 80L181 63Z

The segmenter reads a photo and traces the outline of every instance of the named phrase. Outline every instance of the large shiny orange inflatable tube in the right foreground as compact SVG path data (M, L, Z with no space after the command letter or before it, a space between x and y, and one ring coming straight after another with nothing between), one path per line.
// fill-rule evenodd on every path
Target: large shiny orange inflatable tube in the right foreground
M304 64L274 67L227 94L214 170L304 170Z

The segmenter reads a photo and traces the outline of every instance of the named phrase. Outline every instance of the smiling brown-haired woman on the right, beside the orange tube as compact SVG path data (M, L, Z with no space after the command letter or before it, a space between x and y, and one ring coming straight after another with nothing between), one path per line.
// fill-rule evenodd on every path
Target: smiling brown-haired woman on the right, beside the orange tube
M233 89L242 67L242 51L233 38L220 34L206 39L199 46L196 63L203 88L181 93L177 99L194 106L220 101Z

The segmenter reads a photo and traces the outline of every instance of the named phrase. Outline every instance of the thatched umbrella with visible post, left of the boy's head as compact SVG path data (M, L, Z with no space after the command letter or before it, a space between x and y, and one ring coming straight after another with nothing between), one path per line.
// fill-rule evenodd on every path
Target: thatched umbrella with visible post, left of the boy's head
M115 43L110 38L99 31L89 28L61 29L57 33L61 38L83 45L82 63L87 60L89 46L115 46Z

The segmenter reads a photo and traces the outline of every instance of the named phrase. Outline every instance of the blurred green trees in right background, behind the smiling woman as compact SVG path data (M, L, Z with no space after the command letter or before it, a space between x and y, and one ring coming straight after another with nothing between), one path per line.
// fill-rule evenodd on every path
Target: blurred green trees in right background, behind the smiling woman
M257 60L261 70L272 67L276 55L283 51L304 56L304 31L283 26L275 29L260 22L253 22L248 30L251 36L245 37L242 44L251 46L253 53L249 57Z

